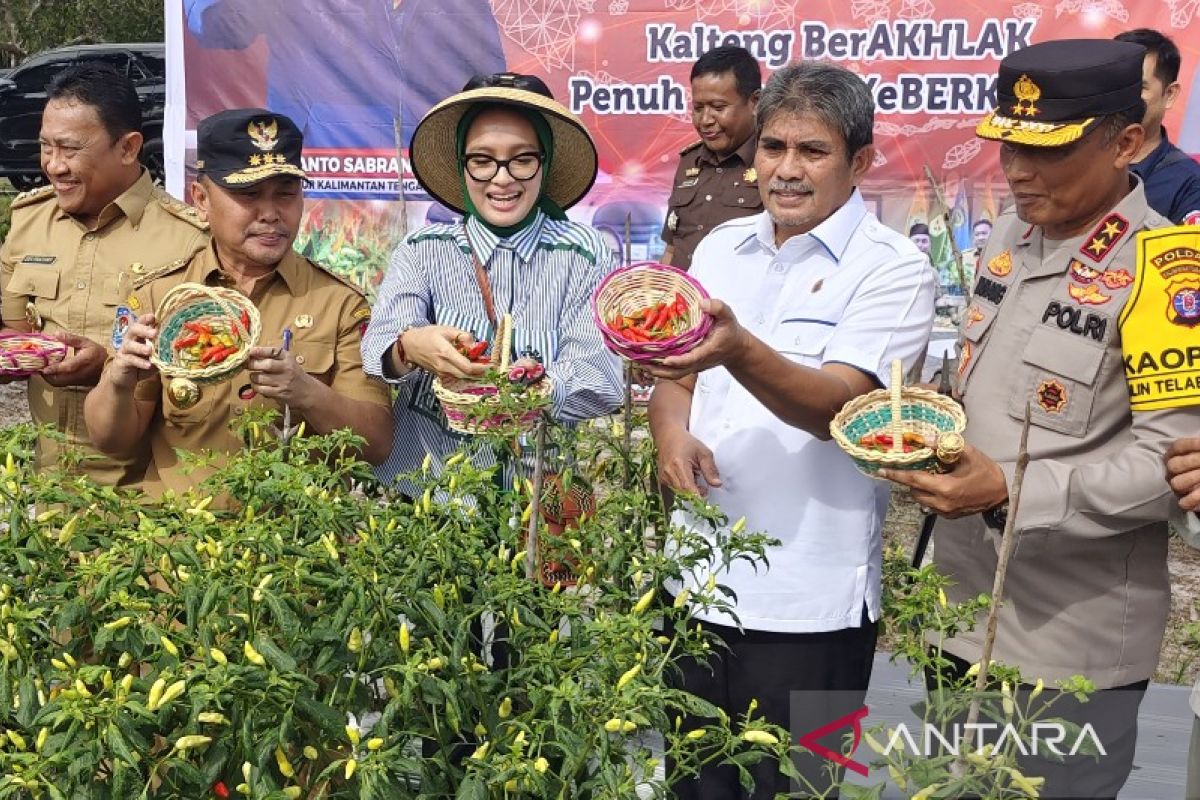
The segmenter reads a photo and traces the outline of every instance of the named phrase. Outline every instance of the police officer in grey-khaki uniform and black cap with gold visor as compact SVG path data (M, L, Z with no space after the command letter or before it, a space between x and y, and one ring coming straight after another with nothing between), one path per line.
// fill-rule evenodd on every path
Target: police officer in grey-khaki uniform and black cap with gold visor
M1091 723L1106 751L1022 759L1046 778L1043 796L1112 798L1132 769L1169 608L1162 458L1198 425L1193 410L1133 411L1126 383L1124 323L1135 302L1164 305L1134 291L1136 234L1169 224L1127 169L1142 139L1142 55L1075 40L1001 62L996 110L977 133L1001 142L1015 205L996 221L962 321L956 391L972 446L948 475L884 475L942 516L947 594L990 594L1030 408L1020 540L992 657L1031 684L1094 681L1088 703L1063 694L1050 716ZM946 644L953 672L979 660L983 637L980 625Z

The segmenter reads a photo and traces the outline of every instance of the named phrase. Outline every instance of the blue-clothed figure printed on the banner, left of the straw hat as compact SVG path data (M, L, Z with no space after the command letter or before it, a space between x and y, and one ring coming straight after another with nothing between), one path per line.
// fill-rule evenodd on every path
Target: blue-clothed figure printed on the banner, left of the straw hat
M434 103L504 70L487 0L184 0L184 14L204 48L266 38L265 106L307 148L392 149L397 118L407 146Z

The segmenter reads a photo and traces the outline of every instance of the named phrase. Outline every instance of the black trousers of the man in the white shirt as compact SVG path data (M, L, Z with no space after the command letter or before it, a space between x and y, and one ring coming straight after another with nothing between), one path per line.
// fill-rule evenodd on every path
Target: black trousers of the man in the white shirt
M726 648L715 646L707 662L684 660L683 688L718 705L733 718L743 716L756 699L755 717L782 726L800 736L838 720L863 705L866 684L871 679L875 639L878 626L864 609L859 627L822 633L774 633L738 631L724 625L701 622L715 633ZM684 728L701 724L690 720ZM822 738L830 750L841 750L841 734ZM796 762L800 774L822 792L840 771L815 754L804 753ZM697 778L676 782L671 787L679 800L736 800L751 796L774 798L776 793L802 792L779 774L779 765L763 759L750 768L752 795L742 789L737 768L707 766ZM799 795L799 796L803 796Z

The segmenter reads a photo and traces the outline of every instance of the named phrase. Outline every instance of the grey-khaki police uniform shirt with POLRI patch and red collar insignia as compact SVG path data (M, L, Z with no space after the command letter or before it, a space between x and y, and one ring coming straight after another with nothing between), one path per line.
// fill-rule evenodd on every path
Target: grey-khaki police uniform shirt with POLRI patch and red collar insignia
M1198 410L1129 410L1117 319L1138 270L1136 233L1165 224L1139 182L1070 240L1004 213L979 260L958 391L966 438L1000 464L1010 497L1026 404L1031 413L1020 540L992 654L1030 681L1082 674L1109 688L1150 678L1158 662L1175 503L1163 453L1194 434ZM947 594L991 594L1000 533L979 515L934 530L935 563L954 582ZM946 649L978 661L983 627Z

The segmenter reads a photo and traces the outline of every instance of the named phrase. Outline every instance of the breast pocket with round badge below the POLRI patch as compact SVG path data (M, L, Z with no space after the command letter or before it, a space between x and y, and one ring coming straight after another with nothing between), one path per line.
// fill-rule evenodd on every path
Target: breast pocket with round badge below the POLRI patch
M1070 437L1082 437L1092 416L1096 377L1104 363L1105 345L1039 327L1021 355L1018 391L1008 402L1009 416L1024 420L1030 405L1032 425Z

